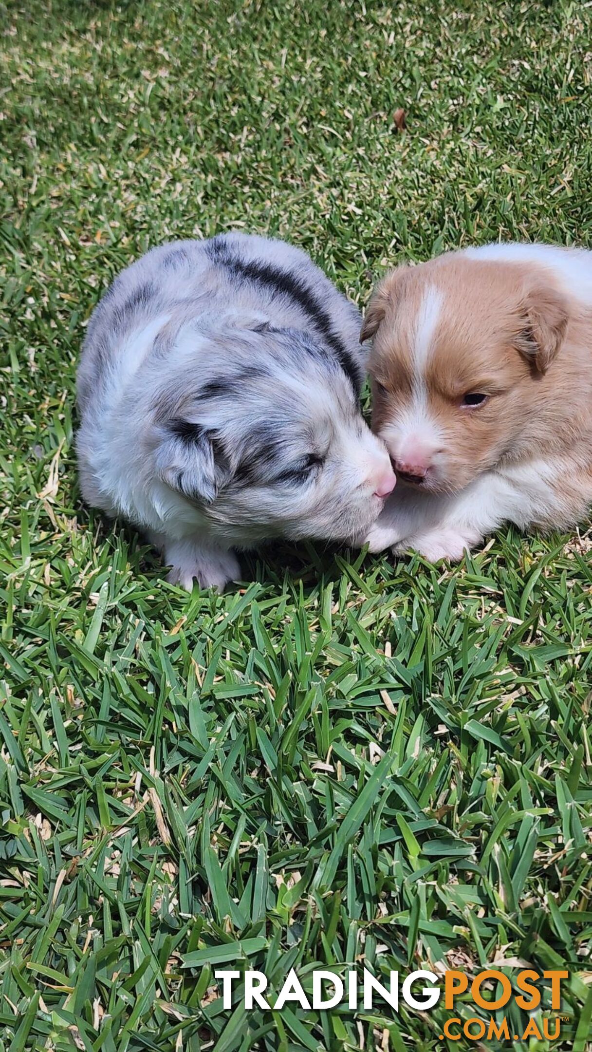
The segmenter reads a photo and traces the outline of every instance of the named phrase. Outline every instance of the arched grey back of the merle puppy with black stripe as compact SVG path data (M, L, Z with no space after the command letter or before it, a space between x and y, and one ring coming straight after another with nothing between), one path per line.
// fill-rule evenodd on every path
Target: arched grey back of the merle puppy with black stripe
M137 359L171 318L229 310L313 331L359 389L365 362L353 304L300 248L233 231L152 248L115 279L88 323L78 370L81 414L97 410L108 389L125 382L130 364L136 371Z

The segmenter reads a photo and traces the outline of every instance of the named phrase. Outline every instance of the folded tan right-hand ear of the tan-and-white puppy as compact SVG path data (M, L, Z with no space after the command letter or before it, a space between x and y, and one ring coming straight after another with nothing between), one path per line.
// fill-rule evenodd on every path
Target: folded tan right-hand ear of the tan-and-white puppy
M546 372L566 336L568 301L551 284L537 282L527 289L520 313L516 349L538 372Z

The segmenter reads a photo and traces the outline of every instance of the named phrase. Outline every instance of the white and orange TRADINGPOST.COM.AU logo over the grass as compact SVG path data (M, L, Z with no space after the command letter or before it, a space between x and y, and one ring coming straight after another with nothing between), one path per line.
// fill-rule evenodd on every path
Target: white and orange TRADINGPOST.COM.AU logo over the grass
M354 969L342 973L326 969L313 969L306 973L306 990L303 983L297 975L293 968L288 972L284 984L277 995L271 998L266 997L268 979L263 972L259 971L217 971L216 978L222 985L223 1007L226 1010L232 1008L232 990L234 984L243 983L244 1007L252 1011L253 1008L263 1011L281 1012L285 1005L297 1004L304 1009L314 1009L317 1011L327 1011L338 1005L347 1003L348 1008L353 1011L363 1009L371 1011L379 1007L377 1002L382 1000L399 1012L401 1002L408 1008L414 1008L422 1012L429 1012L444 998L444 1007L450 1015L443 1026L440 1038L456 1041L462 1037L472 1041L487 1040L526 1040L534 1037L536 1040L546 1038L555 1041L560 1036L562 1017L557 1014L552 1017L540 1016L537 1009L542 1003L542 989L544 986L551 990L551 1009L558 1013L562 1004L562 982L568 978L567 971L547 970L537 972L533 968L523 968L514 977L515 987L519 993L514 993L512 982L496 968L488 968L478 972L474 978L470 979L466 972L450 969L441 978L434 972L420 970L410 972L404 978L400 972L390 972L389 986L383 985L366 968L362 971ZM422 986L420 987L420 984ZM491 1000L484 996L483 988L491 988L494 984L499 984L501 991L495 999ZM327 987L332 986L332 991L328 992ZM467 995L467 996L465 996ZM499 1013L496 1018L490 1015L484 1018L482 1015L463 1017L456 1014L457 1000L463 997L463 1007L472 1004L486 1013ZM514 1023L510 1023L503 1010L508 1010L514 1003L519 1009L530 1014L525 1021L520 1033L516 1033Z

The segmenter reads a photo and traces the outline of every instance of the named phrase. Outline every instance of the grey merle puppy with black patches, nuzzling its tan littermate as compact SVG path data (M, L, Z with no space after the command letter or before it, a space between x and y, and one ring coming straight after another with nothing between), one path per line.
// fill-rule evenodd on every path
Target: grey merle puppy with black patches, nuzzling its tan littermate
M95 310L78 371L84 499L220 590L233 549L349 540L394 485L364 423L361 319L298 248L228 234L149 251Z

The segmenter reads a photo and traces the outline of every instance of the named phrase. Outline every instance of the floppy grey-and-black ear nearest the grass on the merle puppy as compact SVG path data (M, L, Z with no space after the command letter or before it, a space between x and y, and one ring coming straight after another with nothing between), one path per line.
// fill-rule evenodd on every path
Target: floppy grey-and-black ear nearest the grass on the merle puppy
M159 478L183 497L211 504L229 474L222 446L211 431L181 418L164 430L156 456Z

